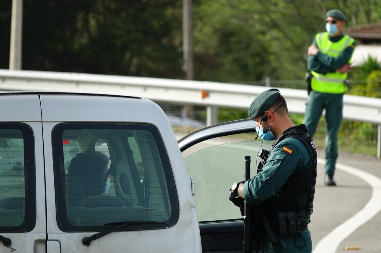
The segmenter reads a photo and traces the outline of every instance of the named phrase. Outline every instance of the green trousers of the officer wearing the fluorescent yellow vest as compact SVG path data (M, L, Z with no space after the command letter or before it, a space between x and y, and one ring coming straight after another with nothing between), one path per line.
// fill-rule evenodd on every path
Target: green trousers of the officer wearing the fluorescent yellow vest
M335 173L338 157L338 132L343 119L343 95L311 91L303 120L307 126L308 134L313 138L317 123L319 123L320 116L325 109L328 137L325 146L325 173L328 175Z

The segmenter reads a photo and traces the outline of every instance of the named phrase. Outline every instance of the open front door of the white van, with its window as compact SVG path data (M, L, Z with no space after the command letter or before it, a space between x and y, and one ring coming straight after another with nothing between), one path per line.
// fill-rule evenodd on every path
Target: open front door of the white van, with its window
M244 157L251 156L253 177L258 152L272 144L255 137L255 122L243 119L205 127L178 141L187 173L194 178L204 253L242 252L243 217L228 193L233 183L244 180Z

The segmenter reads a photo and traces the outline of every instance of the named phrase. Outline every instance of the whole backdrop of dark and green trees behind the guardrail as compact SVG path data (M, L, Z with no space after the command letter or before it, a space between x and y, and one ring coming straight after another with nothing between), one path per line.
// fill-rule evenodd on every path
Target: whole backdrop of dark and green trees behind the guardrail
M0 68L8 68L11 2L0 1ZM24 0L23 6L23 69L184 76L181 1ZM333 8L343 10L349 27L381 19L379 0L194 0L195 79L269 76L296 87L292 80L303 79L307 48Z

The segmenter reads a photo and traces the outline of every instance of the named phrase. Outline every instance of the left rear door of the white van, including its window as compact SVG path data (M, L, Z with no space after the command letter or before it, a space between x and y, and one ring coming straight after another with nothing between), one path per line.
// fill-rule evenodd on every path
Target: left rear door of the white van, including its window
M40 99L1 94L0 252L46 252Z

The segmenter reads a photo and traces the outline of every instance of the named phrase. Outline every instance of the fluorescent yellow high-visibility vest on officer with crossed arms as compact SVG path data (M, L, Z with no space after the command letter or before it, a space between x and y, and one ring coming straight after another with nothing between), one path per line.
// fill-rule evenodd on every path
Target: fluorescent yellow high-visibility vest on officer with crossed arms
M348 35L344 35L339 41L332 42L329 40L328 32L318 33L315 37L317 48L323 54L328 56L338 57L341 52L348 46L354 43L354 39ZM351 63L351 60L348 62ZM347 86L344 81L347 79L347 73L330 72L325 75L311 71L312 80L311 88L313 91L330 93L330 94L342 94L347 91Z

